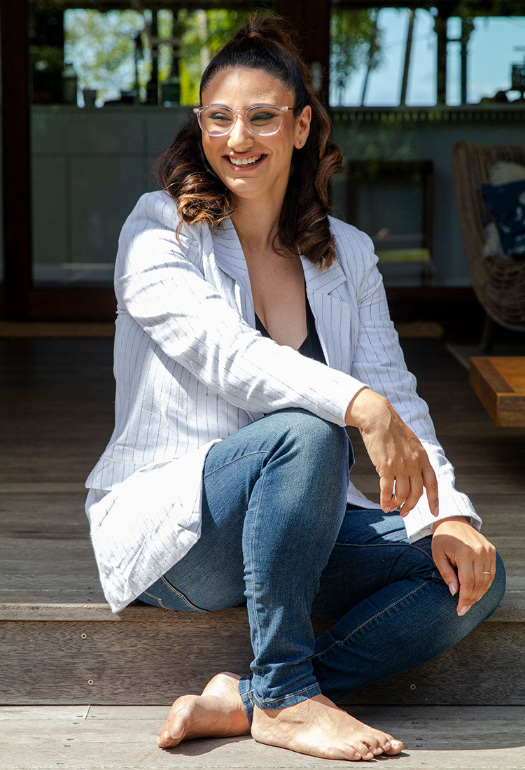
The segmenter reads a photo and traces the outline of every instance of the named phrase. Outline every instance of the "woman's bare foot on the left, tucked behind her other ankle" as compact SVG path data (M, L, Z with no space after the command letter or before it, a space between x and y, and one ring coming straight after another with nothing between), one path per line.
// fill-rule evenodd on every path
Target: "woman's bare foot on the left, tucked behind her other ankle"
M221 738L249 734L249 721L239 695L236 674L214 676L202 695L181 695L159 730L157 745L171 748L189 738Z

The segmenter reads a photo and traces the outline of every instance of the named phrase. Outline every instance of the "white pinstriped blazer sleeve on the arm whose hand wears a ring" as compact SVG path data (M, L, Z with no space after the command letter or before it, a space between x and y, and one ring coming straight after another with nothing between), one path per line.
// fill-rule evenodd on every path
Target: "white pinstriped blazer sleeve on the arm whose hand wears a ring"
M348 227L348 226L346 226ZM356 235L359 243L356 249ZM465 494L456 490L454 470L446 459L443 447L437 440L429 409L416 391L416 378L406 369L399 337L390 319L383 278L376 267L373 242L365 233L353 228L352 243L357 269L357 303L359 310L359 334L353 357L352 374L367 383L376 393L390 401L402 420L420 439L436 472L439 486L440 514L437 520L451 516L470 517L471 523L480 529L481 519ZM342 258L348 259L345 236L340 241ZM356 253L356 250L360 253ZM348 269L345 266L345 269ZM415 541L432 534L432 524L437 521L430 513L426 492L413 511L403 521L410 540Z

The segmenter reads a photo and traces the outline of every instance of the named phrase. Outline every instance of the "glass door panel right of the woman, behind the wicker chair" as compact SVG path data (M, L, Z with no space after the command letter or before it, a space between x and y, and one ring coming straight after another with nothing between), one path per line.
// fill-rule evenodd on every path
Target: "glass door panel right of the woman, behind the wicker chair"
M388 285L470 284L453 146L459 139L525 144L525 3L512 5L521 15L503 16L502 8L486 2L476 16L458 2L446 17L433 7L355 8L333 0L330 105L345 159L333 209L373 238ZM413 162L432 169L426 182L413 176ZM483 182L492 179L494 162ZM525 179L521 169L513 174ZM472 184L483 200L480 179ZM490 222L487 209L475 236L480 259L495 243L487 229L483 235Z

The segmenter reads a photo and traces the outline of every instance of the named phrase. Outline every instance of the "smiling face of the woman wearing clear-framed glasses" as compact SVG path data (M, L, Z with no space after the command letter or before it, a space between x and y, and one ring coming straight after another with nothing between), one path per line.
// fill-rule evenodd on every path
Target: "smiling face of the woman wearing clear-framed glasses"
M220 104L232 110L246 110L256 104L293 107L293 91L263 69L231 67L218 72L202 92L202 105ZM234 196L260 200L286 192L294 146L306 142L312 110L303 109L294 118L284 113L283 126L273 136L256 136L241 115L226 136L202 132L202 146L209 165ZM242 159L256 160L248 166L234 165Z

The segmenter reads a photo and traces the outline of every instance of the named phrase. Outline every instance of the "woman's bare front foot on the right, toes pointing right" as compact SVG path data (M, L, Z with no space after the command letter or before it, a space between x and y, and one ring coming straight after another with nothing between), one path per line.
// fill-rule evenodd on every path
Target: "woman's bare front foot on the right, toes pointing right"
M403 749L392 735L364 725L324 695L276 710L256 707L252 736L259 743L325 759L373 759Z

